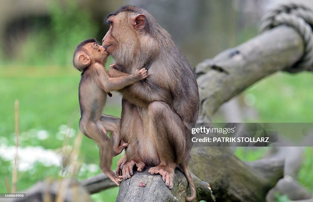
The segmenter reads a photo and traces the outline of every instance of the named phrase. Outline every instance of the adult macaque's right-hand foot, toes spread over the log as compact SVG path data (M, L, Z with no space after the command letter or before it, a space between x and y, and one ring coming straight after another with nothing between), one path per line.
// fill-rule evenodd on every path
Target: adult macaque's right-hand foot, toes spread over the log
M176 167L176 166L175 166ZM174 178L174 169L170 166L166 165L158 165L156 167L152 167L148 170L148 173L151 175L154 174L160 174L162 176L163 181L165 182L165 185L168 187L168 189L173 188L173 178Z

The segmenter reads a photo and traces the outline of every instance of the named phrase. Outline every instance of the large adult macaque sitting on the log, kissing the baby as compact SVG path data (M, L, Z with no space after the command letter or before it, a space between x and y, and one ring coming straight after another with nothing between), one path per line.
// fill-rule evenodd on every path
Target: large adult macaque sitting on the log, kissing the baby
M106 22L110 28L102 45L116 62L109 75L117 70L131 74L138 67L149 71L146 80L119 91L123 95L121 139L129 145L116 172L129 179L134 165L139 172L145 165L154 166L148 172L162 175L172 189L174 170L179 167L191 187L186 200L192 201L196 190L187 163L199 93L190 64L146 10L125 6L111 13Z

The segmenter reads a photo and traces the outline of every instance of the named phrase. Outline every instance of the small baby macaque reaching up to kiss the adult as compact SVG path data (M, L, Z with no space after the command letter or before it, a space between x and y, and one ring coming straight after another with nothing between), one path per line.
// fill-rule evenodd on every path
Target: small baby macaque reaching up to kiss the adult
M103 46L95 39L87 39L77 45L73 64L83 72L79 84L80 131L98 144L100 168L119 186L122 176L117 176L112 171L112 156L120 154L128 143L120 138L120 119L102 114L106 94L134 84L148 75L147 70L142 68L130 75L116 71L116 78L110 78L104 68L107 57L108 53ZM107 131L111 132L111 139L107 137Z

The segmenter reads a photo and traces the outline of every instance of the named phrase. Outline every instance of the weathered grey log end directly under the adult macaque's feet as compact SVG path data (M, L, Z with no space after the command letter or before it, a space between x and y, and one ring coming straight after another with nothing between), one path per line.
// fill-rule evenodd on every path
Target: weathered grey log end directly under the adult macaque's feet
M116 201L185 201L185 196L190 196L185 175L176 169L174 188L172 190L165 186L161 175L150 175L145 168L142 173L134 172L134 175L121 182L121 187ZM197 189L197 200L215 201L210 190L210 185L192 175L193 182ZM145 187L139 186L144 183Z

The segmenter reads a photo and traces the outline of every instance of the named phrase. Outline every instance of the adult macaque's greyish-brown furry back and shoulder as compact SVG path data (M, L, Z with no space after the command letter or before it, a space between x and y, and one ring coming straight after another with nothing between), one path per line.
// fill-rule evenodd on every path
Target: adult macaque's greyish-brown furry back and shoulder
M200 100L196 76L186 57L175 46L162 54L167 55L167 58L162 58L151 66L148 72L153 75L150 77L170 91L171 106L185 124L194 125L198 119ZM164 81L167 83L163 83Z

